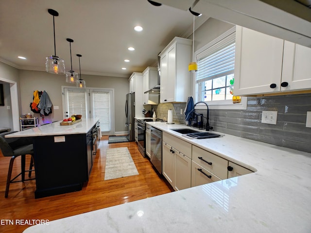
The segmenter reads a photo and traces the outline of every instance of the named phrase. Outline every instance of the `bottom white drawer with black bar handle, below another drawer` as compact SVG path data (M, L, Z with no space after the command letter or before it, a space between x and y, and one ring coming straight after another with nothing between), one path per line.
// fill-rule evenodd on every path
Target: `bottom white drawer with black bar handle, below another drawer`
M191 167L191 187L221 181L221 179L209 172L204 167L192 161Z

